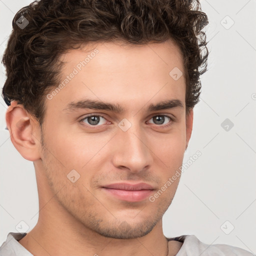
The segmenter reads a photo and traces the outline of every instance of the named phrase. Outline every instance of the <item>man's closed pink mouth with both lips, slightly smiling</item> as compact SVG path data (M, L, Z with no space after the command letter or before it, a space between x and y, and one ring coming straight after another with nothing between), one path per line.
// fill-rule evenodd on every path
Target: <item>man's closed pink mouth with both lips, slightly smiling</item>
M106 193L123 201L137 202L146 199L154 190L147 183L114 183L101 187Z

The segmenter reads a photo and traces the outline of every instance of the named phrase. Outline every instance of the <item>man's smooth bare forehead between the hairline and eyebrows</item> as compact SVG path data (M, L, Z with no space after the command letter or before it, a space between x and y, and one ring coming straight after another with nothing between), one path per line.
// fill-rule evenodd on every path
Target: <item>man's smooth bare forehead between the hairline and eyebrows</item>
M49 107L64 109L72 101L88 98L117 103L124 109L165 99L184 101L183 59L172 40L141 45L89 43L69 50L60 60L64 64L58 85L62 85L56 85L61 88L46 102Z

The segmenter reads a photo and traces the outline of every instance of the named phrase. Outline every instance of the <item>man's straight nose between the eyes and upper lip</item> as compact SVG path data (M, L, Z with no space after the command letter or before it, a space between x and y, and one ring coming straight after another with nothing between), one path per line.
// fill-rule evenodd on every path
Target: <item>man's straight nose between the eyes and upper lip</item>
M126 131L118 128L114 143L112 163L115 167L136 173L151 165L151 151L139 125L132 124Z

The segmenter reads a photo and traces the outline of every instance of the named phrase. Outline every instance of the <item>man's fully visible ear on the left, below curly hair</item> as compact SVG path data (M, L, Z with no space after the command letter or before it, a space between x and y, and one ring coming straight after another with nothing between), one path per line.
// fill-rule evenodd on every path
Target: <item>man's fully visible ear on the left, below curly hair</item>
M10 132L10 139L18 152L27 160L40 158L40 127L38 122L29 115L23 105L11 101L5 120Z

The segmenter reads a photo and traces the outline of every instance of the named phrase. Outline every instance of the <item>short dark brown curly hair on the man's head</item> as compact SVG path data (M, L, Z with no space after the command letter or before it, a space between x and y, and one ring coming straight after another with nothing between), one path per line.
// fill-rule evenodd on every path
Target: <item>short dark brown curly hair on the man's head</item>
M20 17L28 21L23 29L17 25ZM34 1L12 20L2 58L7 76L2 97L7 105L17 100L41 126L44 96L59 82L61 54L89 42L146 44L172 38L184 60L187 111L199 101L199 76L207 68L202 31L207 24L199 0Z

